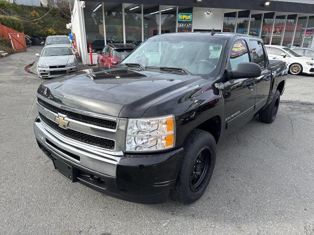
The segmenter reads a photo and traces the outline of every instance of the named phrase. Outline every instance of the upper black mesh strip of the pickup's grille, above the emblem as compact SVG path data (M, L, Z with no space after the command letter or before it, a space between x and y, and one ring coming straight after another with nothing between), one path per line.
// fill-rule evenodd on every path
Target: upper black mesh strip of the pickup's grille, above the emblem
M52 104L50 104L50 103L48 103L48 102L46 102L40 98L37 98L37 102L41 106L52 111L55 114L57 114L57 113L64 114L68 118L71 118L71 119L74 119L77 121L81 121L81 122L85 122L88 124L92 124L95 126L105 127L105 128L112 129L112 130L115 130L117 128L117 122L116 121L105 120L102 118L94 118L94 117L90 117L90 116L86 116L86 115L82 115L82 114L73 113L71 111L67 111L67 110L55 107Z

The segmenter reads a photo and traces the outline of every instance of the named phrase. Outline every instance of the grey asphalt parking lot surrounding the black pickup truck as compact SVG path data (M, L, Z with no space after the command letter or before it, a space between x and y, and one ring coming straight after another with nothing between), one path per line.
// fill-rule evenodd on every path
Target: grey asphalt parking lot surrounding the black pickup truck
M0 234L314 235L314 76L288 75L272 124L254 118L219 143L200 200L141 205L70 183L38 148L45 80L24 67L41 48L0 59Z

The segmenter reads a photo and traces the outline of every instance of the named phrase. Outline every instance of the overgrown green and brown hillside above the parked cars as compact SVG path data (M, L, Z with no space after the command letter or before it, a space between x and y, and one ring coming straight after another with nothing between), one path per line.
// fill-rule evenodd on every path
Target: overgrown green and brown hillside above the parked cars
M50 10L50 8L47 7L18 5L15 3L8 3L4 0L0 0L0 8L9 15L17 16L17 18L25 21L38 19ZM70 15L69 9L62 10L67 15ZM4 15L4 13L0 11L0 17L1 15ZM9 19L12 21L11 17L9 17ZM30 36L36 34L38 36L46 37L54 33L58 35L68 34L70 31L66 28L66 24L70 23L70 21L71 19L63 15L57 8L53 8L48 15L39 21L21 23L24 26L24 30L22 31L24 31L25 34Z

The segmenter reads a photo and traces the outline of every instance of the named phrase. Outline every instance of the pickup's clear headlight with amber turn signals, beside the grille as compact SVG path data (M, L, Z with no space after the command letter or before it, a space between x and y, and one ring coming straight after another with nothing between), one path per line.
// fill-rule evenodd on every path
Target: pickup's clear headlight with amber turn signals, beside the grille
M126 151L156 151L174 147L174 116L129 119Z

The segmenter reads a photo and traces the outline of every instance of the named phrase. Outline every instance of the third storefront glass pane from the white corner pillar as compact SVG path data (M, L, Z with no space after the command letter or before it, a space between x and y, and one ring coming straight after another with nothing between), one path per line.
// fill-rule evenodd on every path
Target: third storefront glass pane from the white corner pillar
M142 5L135 4L124 9L126 43L142 42Z

